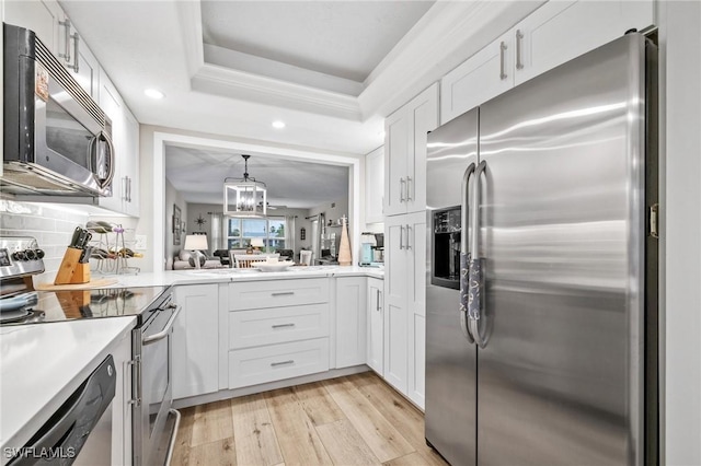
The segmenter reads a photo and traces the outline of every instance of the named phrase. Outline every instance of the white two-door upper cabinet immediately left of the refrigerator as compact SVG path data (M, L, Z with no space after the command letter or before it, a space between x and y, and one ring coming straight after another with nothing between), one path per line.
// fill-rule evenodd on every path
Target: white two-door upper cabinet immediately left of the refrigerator
M438 127L438 83L384 121L384 214L426 209L426 133Z

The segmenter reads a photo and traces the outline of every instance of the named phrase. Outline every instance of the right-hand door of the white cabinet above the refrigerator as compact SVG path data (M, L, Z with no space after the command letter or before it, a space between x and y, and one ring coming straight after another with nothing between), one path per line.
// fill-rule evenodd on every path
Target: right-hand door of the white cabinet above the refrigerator
M516 84L611 42L630 28L652 24L650 0L548 2L513 30L513 40L520 40L516 48L521 51L516 56Z

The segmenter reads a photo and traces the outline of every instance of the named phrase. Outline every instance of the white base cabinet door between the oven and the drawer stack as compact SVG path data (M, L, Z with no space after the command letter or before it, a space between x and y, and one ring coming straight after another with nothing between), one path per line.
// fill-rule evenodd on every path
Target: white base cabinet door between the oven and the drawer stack
M219 389L218 286L175 288L182 306L173 324L173 398L204 395Z

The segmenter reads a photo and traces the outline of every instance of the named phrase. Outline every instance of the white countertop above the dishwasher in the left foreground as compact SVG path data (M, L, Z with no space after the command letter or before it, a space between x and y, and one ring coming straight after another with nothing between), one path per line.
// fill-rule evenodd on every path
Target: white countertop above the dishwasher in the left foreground
M135 323L131 316L0 327L2 451L23 446Z

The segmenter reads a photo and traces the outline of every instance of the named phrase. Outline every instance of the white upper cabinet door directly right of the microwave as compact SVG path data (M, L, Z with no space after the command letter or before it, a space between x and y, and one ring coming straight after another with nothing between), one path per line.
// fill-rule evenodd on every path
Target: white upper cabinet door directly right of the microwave
M123 199L125 196L125 184L122 159L123 151L123 130L124 130L124 102L117 93L116 88L107 78L107 74L100 70L100 107L107 114L112 120L112 142L115 151L115 172L112 180L112 196L101 197L99 202L101 207L110 210L122 212L124 209Z

